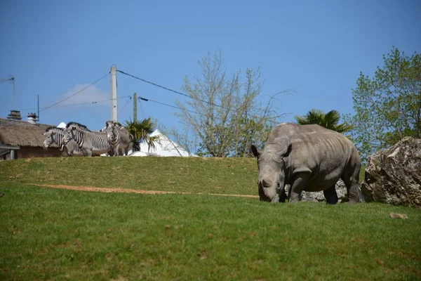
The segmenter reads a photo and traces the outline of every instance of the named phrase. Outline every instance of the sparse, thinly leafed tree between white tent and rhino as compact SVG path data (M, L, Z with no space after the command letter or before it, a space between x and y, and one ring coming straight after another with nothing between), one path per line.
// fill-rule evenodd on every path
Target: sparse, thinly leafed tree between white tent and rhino
M206 55L199 61L201 77L194 83L185 77L182 90L190 99L177 100L178 113L185 128L199 139L199 155L242 157L250 143L266 141L269 131L281 117L273 110L274 97L265 107L258 100L262 90L260 70L247 69L228 74L221 53ZM187 103L187 105L186 105Z

